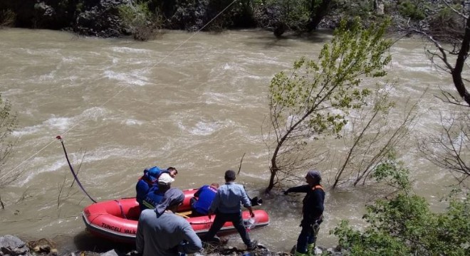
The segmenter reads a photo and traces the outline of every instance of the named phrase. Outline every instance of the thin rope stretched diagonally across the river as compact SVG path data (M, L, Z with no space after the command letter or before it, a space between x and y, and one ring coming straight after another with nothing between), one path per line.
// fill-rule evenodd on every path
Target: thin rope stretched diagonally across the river
M222 11L219 12L219 14L217 14L216 16L214 16L214 18L212 18L209 22L207 22L204 26L202 26L202 28L199 28L198 31L194 32L192 34L192 36L189 36L189 38L187 38L187 40L183 41L182 43L179 44L179 46L177 46L177 48L174 48L174 50L172 50L170 53L168 53L164 58L162 58L160 61L158 61L157 63L155 63L155 65L152 66L152 68L155 68L155 66L159 65L160 63L162 63L163 60L165 60L166 58L169 57L169 55L172 55L172 53L174 53L176 50L178 50L179 48L181 48L184 43L187 43L187 41L189 41L191 38L193 38L194 36L196 36L197 33L199 33L200 31L202 31L204 28L206 28L212 21L214 21L217 17L219 17L221 14L224 13L224 11L226 11L226 9L229 9L230 6L232 6L236 1L238 0L234 0L234 1L231 1L231 3L229 5L227 5ZM139 80L137 78L137 80ZM147 81L144 81L144 82L147 82ZM110 102L111 100L113 100L117 95L119 95L123 90L127 89L127 87L129 87L130 85L126 85L124 87L122 87L121 90L118 90L115 95L111 96L108 100L106 100L105 102L103 102L102 105L100 105L99 107L104 107L105 105L108 104L108 102ZM81 119L81 120L78 120L75 125L73 125L72 127L70 127L69 129L66 130L66 132L63 132L61 135L65 135L67 134L68 132L70 132L72 129L75 129L75 127L77 127L79 124L81 124L83 121L85 121L85 118ZM59 135L58 137L61 137L61 135ZM57 137L56 137L57 138ZM22 166L24 163L26 163L26 161L29 161L30 159L33 158L33 156L36 156L37 154L39 154L41 151L43 151L44 149L46 149L48 146L51 146L51 144L53 144L55 140L52 140L50 143L46 144L46 146L43 146L42 149L39 149L38 151L36 151L36 153L32 154L31 156L29 156L27 159L21 161L20 164L18 164L17 166L15 166L13 169L11 169L10 171L6 172L6 174L0 174L0 180L9 176L9 174L13 173L13 171L15 171L16 169L18 169L20 166ZM62 144L63 146L63 144ZM65 150L65 148L64 148ZM68 159L67 159L68 161ZM69 166L71 167L70 165L70 162L69 162ZM78 181L78 179L77 179ZM81 186L81 185L80 185ZM85 192L86 193L86 192ZM88 194L87 194L88 196ZM90 196L88 196L90 197ZM91 199L91 198L90 198ZM92 199L93 201L93 199Z

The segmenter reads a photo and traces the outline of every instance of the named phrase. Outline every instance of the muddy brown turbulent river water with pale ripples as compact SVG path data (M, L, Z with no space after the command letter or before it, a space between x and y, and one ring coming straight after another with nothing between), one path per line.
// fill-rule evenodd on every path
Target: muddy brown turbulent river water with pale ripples
M154 41L83 38L58 31L0 31L2 97L18 113L15 154L0 177L21 172L1 188L0 235L51 238L71 248L96 242L85 233L81 211L91 201L79 190L61 143L83 187L97 201L135 196L135 183L148 166L175 166L174 186L197 188L223 182L226 169L251 196L262 196L269 155L261 126L268 117L268 84L302 55L316 58L330 33L278 40L269 31L220 34L171 31ZM424 55L426 43L402 39L392 48L393 97L402 107L419 104L419 137L439 124L439 86L453 89ZM336 143L336 142L335 142ZM425 161L414 148L402 149L416 190L440 209L449 190L447 172ZM333 165L334 163L330 163ZM318 245L335 245L328 230L340 219L360 225L366 188L330 191L334 172L324 168L326 220ZM299 181L299 185L303 181ZM273 191L261 208L271 224L251 231L271 250L290 250L300 232L301 204ZM231 245L242 245L233 235Z

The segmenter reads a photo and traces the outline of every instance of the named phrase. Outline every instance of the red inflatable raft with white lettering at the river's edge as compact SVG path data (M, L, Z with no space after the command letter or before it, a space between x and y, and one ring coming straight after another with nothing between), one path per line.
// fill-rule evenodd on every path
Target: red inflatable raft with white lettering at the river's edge
M184 203L178 208L179 215L182 215L192 225L192 228L198 235L209 231L214 216L209 220L207 216L192 217L189 200L194 196L197 189L188 189L184 192ZM268 213L264 210L254 210L255 228L263 227L269 224ZM135 198L123 198L119 200L103 201L93 203L83 209L83 221L94 235L113 240L116 242L135 242L137 233L137 220L139 219L140 209ZM244 220L250 218L248 210L242 213ZM221 228L219 233L229 233L235 231L234 226L227 222Z

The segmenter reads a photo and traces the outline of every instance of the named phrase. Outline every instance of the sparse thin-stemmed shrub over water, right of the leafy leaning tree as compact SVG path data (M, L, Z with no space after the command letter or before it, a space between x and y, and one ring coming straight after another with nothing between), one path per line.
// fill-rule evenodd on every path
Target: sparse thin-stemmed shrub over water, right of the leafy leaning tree
M417 103L405 108L402 117L395 117L392 121L389 115L395 110L395 102L390 100L387 90L390 87L390 84L377 87L371 97L371 107L352 112L350 131L343 135L348 151L344 159L340 157L341 165L335 175L333 188L345 181L352 181L354 186L360 182L365 184L377 164L407 142L409 129L417 117Z

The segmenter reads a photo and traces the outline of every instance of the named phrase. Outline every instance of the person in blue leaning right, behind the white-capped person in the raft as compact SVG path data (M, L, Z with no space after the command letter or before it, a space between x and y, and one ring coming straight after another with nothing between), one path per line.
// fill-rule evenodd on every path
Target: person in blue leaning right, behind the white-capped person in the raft
M139 178L137 185L135 186L136 196L135 199L139 203L140 210L143 210L143 201L150 192L150 188L157 185L158 178L161 174L169 174L172 178L177 176L178 170L174 167L168 167L167 169L160 169L157 166L153 166L150 169L144 170L144 175Z

